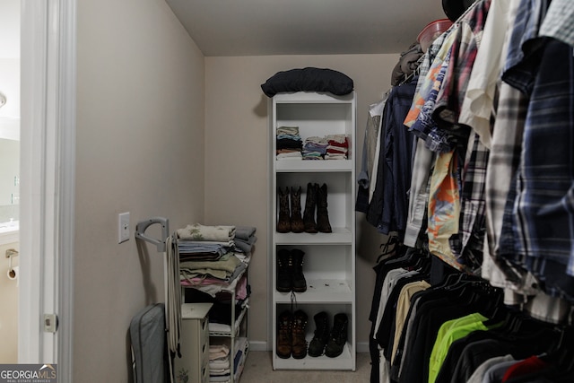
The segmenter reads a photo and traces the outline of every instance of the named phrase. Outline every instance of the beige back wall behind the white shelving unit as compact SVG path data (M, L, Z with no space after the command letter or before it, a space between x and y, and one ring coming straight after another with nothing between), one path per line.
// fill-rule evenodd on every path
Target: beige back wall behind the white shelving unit
M261 83L297 67L328 67L349 75L357 92L357 149L369 105L382 98L398 55L205 57L205 221L257 227L250 266L251 342L267 341L267 226L269 175L267 97ZM357 170L361 163L357 161ZM386 237L357 214L357 340L368 344L369 311L375 283L372 267ZM271 344L268 344L271 347ZM365 350L366 351L366 350Z

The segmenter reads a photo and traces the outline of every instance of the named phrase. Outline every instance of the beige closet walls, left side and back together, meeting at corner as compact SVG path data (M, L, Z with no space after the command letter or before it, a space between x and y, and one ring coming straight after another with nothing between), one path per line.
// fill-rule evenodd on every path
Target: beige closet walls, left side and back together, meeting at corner
M249 327L265 344L268 141L259 85L307 65L348 74L361 151L368 105L387 91L398 56L203 57L163 0L79 0L77 49L73 380L128 381L129 322L163 300L161 254L133 238L135 223L156 215L170 218L171 230L257 227ZM132 239L117 244L122 212L131 213ZM357 335L366 344L372 266L385 239L361 214L357 237Z

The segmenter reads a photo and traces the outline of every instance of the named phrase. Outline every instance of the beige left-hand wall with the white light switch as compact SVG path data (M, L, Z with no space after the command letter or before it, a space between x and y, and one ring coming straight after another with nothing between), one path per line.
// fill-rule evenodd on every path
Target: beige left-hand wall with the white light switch
M77 19L72 381L127 382L130 320L163 300L161 254L135 223L204 218L204 57L164 0L78 0Z

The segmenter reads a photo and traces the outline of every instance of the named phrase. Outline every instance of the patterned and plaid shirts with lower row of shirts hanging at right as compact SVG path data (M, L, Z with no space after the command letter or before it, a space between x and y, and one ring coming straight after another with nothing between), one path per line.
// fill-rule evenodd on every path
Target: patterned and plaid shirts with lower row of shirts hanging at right
M422 57L405 255L377 266L371 382L574 379L572 4L478 0Z

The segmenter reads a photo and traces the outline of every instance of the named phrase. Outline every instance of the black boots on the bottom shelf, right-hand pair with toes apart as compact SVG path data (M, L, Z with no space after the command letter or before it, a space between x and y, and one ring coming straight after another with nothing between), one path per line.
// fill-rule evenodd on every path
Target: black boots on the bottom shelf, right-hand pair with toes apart
M333 328L329 331L329 319L325 311L316 314L315 335L309 343L309 356L321 356L324 352L329 358L335 358L343 353L347 342L349 319L344 313L336 314L333 318Z

